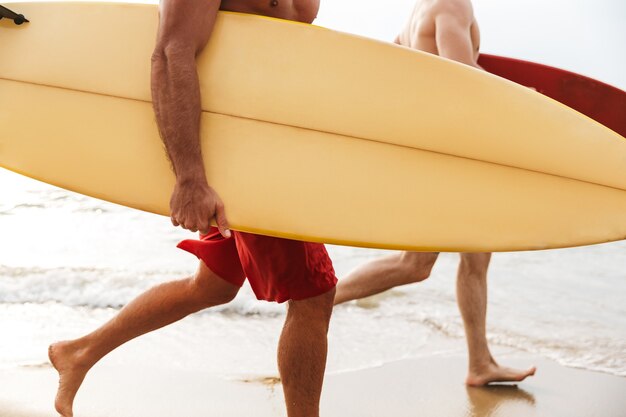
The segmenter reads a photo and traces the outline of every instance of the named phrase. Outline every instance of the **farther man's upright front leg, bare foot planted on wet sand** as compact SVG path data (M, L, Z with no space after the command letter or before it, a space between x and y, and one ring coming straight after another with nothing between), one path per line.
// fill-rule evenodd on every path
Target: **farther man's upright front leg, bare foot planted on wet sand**
M490 253L462 253L456 289L459 310L465 325L469 351L467 384L486 385L490 382L522 381L535 374L532 367L525 371L504 368L496 363L487 342L487 269Z

